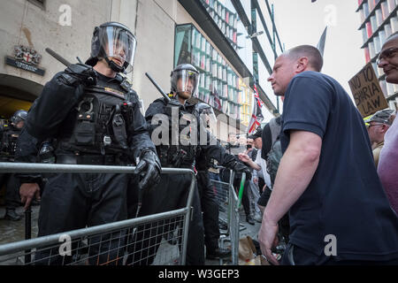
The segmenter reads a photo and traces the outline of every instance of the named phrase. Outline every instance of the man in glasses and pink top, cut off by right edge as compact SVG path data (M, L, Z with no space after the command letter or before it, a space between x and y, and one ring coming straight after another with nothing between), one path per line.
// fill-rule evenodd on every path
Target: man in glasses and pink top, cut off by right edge
M398 32L391 34L381 49L379 68L389 83L398 83ZM385 135L380 152L378 173L391 207L398 213L398 122L395 120Z

